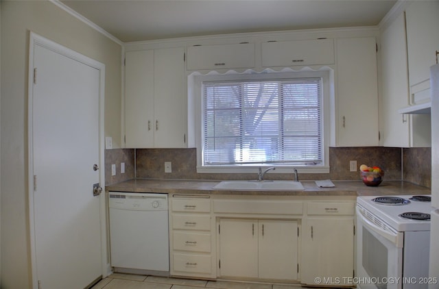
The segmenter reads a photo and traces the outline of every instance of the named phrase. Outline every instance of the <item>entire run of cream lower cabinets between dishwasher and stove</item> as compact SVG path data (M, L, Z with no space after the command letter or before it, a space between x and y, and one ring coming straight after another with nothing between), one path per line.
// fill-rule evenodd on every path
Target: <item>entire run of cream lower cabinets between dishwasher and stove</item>
M171 276L352 286L354 199L174 194Z

